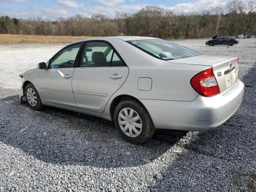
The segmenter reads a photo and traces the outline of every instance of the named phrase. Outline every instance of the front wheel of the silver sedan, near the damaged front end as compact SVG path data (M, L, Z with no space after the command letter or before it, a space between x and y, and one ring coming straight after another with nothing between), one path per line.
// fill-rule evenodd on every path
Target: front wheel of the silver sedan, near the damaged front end
M40 96L32 83L28 83L25 88L27 105L33 110L42 110L44 108Z

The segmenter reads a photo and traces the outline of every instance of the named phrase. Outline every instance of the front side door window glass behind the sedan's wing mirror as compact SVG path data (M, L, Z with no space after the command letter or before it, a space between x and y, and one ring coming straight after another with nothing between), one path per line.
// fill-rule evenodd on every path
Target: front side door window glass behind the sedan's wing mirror
M49 63L50 69L54 68L72 68L76 60L76 55L80 49L80 44L69 46L59 52Z

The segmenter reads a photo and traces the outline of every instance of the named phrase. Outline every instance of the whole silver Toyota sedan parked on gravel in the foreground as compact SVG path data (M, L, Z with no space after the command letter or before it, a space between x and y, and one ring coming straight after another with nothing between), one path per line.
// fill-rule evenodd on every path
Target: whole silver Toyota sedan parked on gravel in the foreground
M238 109L244 84L238 58L204 55L151 37L116 36L73 42L20 74L20 102L114 121L128 141L156 128L206 131Z

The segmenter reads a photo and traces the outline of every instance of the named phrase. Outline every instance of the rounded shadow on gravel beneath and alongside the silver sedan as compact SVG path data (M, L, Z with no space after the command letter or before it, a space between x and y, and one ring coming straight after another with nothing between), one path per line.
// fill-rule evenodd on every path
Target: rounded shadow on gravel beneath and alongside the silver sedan
M170 150L188 132L157 130L135 145L107 120L54 107L31 110L18 96L0 99L0 142L46 163L110 167L141 166Z

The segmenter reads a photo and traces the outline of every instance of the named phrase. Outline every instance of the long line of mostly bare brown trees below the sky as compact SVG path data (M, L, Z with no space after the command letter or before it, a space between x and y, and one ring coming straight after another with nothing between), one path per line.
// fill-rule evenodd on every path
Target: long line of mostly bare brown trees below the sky
M40 18L0 17L1 34L54 36L152 36L163 39L208 38L215 34L234 36L256 33L256 3L232 0L225 7L202 12L168 10L146 6L134 14L79 14L55 21Z

